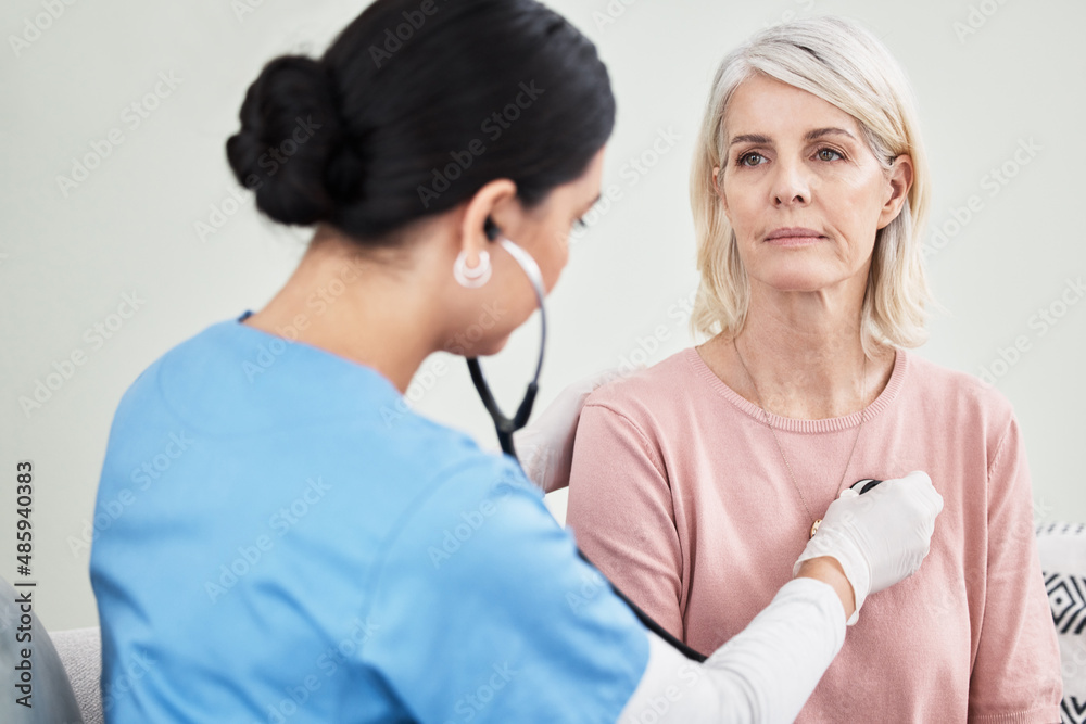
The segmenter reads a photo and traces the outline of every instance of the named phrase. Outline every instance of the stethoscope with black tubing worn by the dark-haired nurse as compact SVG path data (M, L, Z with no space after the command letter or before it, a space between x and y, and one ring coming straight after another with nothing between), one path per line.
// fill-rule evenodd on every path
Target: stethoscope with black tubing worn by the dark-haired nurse
M517 465L520 465L520 458L517 457L517 450L513 445L513 433L528 424L528 418L532 414L532 406L535 404L535 394L539 392L540 371L543 369L543 351L546 348L546 309L543 304L543 297L545 296L543 289L543 275L540 272L540 267L535 264L535 259L532 258L531 254L503 237L501 230L490 218L487 219L483 230L490 241L497 241L501 243L502 247L509 252L513 259L520 266L521 269L523 269L525 275L528 277L528 281L531 282L532 289L535 291L535 301L540 307L540 327L542 331L540 333L540 356L535 364L535 373L532 376L532 381L528 383L528 390L525 393L525 398L520 402L520 406L517 408L517 414L512 418L506 417L502 412L502 408L498 407L497 401L494 399L494 395L490 391L490 385L487 384L487 380L482 376L482 368L479 366L478 357L467 358L468 369L471 371L471 382L475 383L483 406L487 408L490 417L494 420L494 429L497 431L497 441L502 445L502 452L513 457L513 459L517 461ZM857 493L863 494L881 482L881 480L868 478L854 483L851 487ZM577 555L580 556L581 560L585 563L595 568L592 561L590 561L588 557L581 552L580 548L577 549ZM598 572L598 569L596 570ZM607 584L611 587L611 590L615 592L615 595L626 601L627 606L630 607L630 610L633 611L634 615L637 617L637 620L640 620L646 628L666 640L692 661L702 662L708 658L704 653L686 646L686 644L672 636L666 628L664 628L664 626L656 623L651 615L642 611L636 604L619 590L618 586L611 583L606 575L602 572L599 572L599 575L603 576L604 581L607 581Z

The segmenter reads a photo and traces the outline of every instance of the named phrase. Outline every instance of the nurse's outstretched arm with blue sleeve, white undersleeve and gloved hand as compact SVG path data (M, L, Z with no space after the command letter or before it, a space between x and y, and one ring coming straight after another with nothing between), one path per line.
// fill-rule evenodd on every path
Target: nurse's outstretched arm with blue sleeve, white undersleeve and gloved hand
M420 722L792 721L842 645L849 597L826 582L843 572L862 606L868 582L919 566L936 515L926 477L834 501L799 577L693 663L577 556L507 456L439 478L393 526L358 613L376 627L361 661Z

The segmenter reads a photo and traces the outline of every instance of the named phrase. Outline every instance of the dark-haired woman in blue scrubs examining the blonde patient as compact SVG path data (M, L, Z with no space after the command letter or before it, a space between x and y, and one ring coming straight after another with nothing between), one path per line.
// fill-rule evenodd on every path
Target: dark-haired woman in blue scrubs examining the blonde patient
M90 564L106 720L792 721L866 596L926 555L926 475L835 500L703 662L513 457L403 404L430 354L498 352L556 283L615 118L594 46L534 0L378 0L319 61L268 63L240 115L238 180L316 233L267 306L121 401L98 507L127 503Z

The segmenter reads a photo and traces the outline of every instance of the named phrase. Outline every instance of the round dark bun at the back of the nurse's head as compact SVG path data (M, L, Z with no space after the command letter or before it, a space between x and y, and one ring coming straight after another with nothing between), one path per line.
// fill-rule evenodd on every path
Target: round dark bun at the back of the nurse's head
M325 65L304 55L269 61L239 116L241 130L227 140L226 155L238 182L255 191L257 208L282 224L332 219L337 202L357 188L361 164Z

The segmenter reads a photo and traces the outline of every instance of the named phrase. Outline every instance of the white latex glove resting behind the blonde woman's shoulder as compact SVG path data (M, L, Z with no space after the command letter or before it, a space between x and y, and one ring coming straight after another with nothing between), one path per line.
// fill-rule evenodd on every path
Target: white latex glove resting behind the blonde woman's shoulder
M566 386L554 402L527 427L513 433L513 445L528 480L544 493L569 485L569 469L573 465L573 436L581 418L584 401L598 386L611 380L644 369L630 371L608 369L596 372Z

